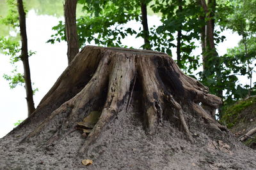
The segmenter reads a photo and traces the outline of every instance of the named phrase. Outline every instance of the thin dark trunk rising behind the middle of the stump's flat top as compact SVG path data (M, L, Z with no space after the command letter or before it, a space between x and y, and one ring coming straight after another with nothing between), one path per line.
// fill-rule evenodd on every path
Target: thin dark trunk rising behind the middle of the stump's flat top
M141 17L142 17L142 25L143 25L143 39L144 45L143 49L150 50L150 42L149 38L149 31L148 31L148 19L147 19L147 4L144 1L141 1Z

